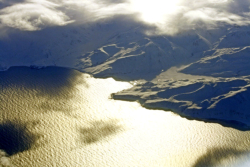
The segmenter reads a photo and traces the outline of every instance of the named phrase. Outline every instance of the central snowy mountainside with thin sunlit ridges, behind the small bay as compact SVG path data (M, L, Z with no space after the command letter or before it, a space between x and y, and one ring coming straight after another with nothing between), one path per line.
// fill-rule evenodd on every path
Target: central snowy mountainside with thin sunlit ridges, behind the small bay
M172 66L199 59L213 47L215 38L219 40L218 35L205 35L208 37L193 31L176 37L153 37L133 29L110 39L108 45L78 57L75 67L97 77L151 80Z

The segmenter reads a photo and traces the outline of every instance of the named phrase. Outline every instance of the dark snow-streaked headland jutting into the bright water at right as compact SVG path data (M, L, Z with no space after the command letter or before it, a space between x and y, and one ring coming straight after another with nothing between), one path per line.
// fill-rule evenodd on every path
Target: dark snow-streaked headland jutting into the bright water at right
M192 119L231 122L229 126L249 128L250 76L214 78L182 74L172 68L152 81L113 94L113 98L172 110Z

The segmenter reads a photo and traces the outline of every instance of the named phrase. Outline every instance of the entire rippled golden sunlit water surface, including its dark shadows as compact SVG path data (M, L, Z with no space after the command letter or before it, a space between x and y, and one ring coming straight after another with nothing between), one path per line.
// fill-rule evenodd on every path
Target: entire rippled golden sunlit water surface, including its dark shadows
M129 87L59 67L0 72L1 141L12 165L238 166L250 158L248 131L110 99Z

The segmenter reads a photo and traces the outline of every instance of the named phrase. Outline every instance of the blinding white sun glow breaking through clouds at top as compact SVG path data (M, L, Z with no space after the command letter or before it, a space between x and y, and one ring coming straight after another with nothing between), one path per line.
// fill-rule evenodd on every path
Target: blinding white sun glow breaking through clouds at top
M166 15L173 14L181 0L131 0L132 9L147 23L161 23Z

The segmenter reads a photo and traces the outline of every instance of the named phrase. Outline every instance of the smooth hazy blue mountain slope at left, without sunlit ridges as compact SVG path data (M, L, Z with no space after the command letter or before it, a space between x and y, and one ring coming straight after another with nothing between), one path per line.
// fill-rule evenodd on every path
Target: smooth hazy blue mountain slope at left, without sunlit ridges
M120 22L126 22L126 19L114 19L105 24L50 27L32 32L15 31L0 39L0 68L18 65L73 67L78 56L105 45L109 38L137 26L124 26Z

